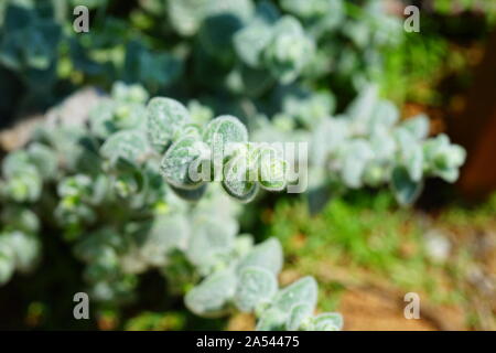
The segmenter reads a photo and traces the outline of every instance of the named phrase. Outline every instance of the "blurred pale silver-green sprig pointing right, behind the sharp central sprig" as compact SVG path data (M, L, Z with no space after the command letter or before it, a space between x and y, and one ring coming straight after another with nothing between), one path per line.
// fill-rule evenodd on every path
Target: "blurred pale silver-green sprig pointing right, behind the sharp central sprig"
M303 183L314 211L347 190L384 186L390 188L401 206L409 206L421 194L425 179L455 182L466 158L463 147L451 143L446 135L429 137L425 115L400 120L398 108L379 98L374 84L364 86L343 114L333 114L325 96L294 96L288 103L288 109L271 119L259 116L252 136L257 141L309 142L309 179ZM304 119L304 108L312 120Z

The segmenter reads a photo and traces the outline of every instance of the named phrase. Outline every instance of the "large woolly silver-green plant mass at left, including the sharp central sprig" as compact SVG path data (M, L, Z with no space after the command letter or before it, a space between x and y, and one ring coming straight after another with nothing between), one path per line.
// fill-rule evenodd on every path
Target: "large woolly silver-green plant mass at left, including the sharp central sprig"
M56 229L86 264L97 301L125 304L139 275L157 268L198 315L240 310L255 313L258 330L339 330L338 313L314 315L313 278L279 288L276 238L237 236L235 200L283 190L285 161L248 142L235 117L202 125L208 114L194 104L148 98L140 86L116 84L87 124L60 117L6 157L0 282L32 269L42 236Z

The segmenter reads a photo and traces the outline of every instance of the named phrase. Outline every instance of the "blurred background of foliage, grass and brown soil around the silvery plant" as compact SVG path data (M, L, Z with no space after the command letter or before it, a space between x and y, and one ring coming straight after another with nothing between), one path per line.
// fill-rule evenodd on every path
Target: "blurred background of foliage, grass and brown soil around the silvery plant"
M79 4L89 9L88 33L73 28ZM403 30L411 4L420 32ZM296 18L315 39L312 60L298 73L250 67L249 33L235 34L254 11L268 22ZM0 158L51 107L84 119L117 81L208 107L207 118L235 115L261 136L343 114L373 83L401 118L424 113L432 136L465 148L457 182L427 180L407 208L387 188L349 190L316 213L304 197L265 195L244 206L241 233L278 237L280 281L314 276L319 309L342 312L345 330L496 330L495 25L496 0L0 0ZM7 229L10 218L1 222ZM37 266L0 287L1 329L254 328L248 314L188 313L181 297L164 295L157 270L140 275L131 302L103 302L94 320L72 320L84 265L52 231L40 236ZM419 320L403 317L410 291L421 297Z

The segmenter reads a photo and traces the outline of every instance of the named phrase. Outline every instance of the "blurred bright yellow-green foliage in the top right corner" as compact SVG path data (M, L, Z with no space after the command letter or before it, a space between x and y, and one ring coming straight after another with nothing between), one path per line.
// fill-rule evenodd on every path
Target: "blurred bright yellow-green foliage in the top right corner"
M496 2L418 1L420 32L405 33L397 46L381 51L385 69L375 81L388 98L445 108L466 93L472 72L496 24Z

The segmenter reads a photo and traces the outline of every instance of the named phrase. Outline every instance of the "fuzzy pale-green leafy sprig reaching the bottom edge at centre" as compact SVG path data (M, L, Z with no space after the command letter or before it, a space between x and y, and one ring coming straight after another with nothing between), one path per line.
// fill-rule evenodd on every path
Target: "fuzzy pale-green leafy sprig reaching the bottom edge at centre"
M240 311L255 312L259 319L257 330L263 331L342 329L341 314L313 314L317 285L312 277L278 288L277 275L282 268L283 256L277 239L268 239L248 252L244 249L241 255L186 295L186 306L193 312L215 317L236 307Z

